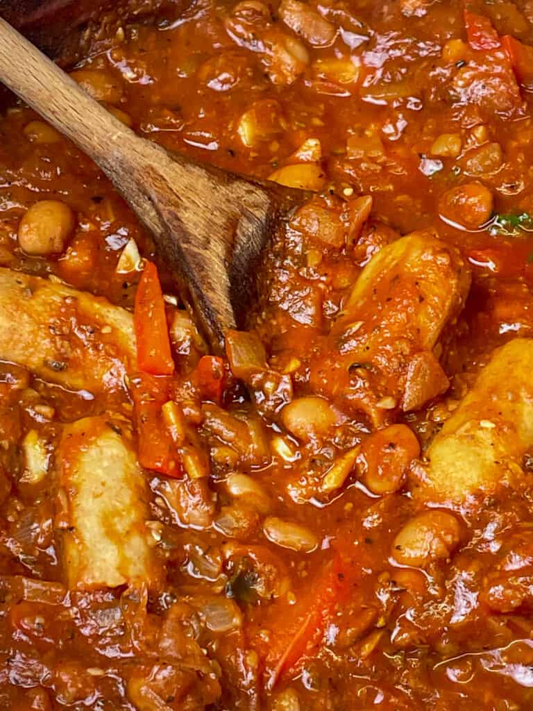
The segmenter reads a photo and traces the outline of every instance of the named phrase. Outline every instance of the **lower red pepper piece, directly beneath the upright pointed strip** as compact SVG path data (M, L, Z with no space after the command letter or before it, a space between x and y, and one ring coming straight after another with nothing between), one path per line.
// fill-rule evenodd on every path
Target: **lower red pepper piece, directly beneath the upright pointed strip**
M167 476L182 476L178 454L161 413L169 397L169 379L140 373L131 378L130 383L139 437L139 464Z

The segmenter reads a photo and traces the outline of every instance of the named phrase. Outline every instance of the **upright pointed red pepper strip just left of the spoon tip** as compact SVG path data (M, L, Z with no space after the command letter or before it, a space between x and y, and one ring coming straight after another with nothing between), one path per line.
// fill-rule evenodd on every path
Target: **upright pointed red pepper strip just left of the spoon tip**
M135 337L139 370L172 375L174 361L166 325L165 301L154 262L146 262L135 296Z

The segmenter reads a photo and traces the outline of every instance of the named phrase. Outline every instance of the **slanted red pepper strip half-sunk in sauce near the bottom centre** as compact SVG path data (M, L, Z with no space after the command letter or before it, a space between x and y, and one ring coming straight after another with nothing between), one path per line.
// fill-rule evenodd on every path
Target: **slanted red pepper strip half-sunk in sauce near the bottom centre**
M337 553L313 585L313 598L308 606L308 612L303 620L298 620L296 634L291 636L286 647L281 651L269 682L271 688L286 673L294 670L304 657L311 656L316 651L335 605L344 602L350 593L350 582L353 581L349 579L348 568Z

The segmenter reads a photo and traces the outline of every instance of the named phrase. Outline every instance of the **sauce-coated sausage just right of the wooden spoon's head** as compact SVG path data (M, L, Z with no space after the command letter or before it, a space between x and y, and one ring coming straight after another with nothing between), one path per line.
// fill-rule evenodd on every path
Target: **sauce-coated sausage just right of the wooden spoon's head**
M383 247L348 294L325 355L312 365L311 383L375 423L398 408L421 407L448 387L433 349L461 311L469 285L459 252L430 232ZM417 367L421 357L425 366Z

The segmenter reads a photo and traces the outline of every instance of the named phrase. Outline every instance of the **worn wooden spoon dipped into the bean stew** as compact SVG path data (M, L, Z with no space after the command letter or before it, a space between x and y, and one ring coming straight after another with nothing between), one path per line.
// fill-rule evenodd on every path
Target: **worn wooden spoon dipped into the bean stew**
M303 191L171 154L134 134L0 18L0 80L90 156L148 228L178 284L188 284L214 348L242 324L269 235Z

